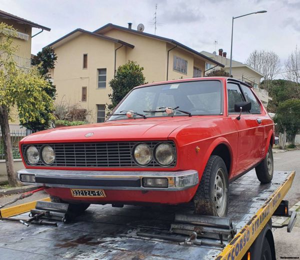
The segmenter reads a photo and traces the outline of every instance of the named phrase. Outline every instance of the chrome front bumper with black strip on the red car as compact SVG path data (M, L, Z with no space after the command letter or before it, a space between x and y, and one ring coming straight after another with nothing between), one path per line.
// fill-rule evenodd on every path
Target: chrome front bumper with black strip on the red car
M22 175L34 175L35 182L22 181ZM105 188L122 190L184 190L199 182L196 170L182 171L85 171L21 169L18 179L28 185L70 188ZM167 178L168 187L144 187L142 178Z

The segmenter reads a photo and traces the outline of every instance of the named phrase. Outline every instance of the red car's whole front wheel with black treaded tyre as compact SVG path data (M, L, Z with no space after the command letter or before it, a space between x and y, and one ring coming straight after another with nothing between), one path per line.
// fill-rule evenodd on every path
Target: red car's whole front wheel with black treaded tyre
M196 214L226 216L228 211L228 173L223 159L211 155L193 197Z

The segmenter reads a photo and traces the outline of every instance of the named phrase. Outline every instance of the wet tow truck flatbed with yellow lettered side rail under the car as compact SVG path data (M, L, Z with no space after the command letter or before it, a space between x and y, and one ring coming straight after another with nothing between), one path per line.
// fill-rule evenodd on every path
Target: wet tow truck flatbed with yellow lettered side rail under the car
M0 259L241 259L287 193L294 174L274 171L271 183L260 184L251 170L230 183L228 217L236 234L231 241L223 241L224 247L179 245L136 234L168 231L175 213L192 213L188 204L90 205L75 221L59 222L57 227L0 221Z

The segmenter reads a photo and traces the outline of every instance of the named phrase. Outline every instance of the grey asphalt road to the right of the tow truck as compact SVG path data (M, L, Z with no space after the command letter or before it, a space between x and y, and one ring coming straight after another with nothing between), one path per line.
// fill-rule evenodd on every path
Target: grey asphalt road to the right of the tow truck
M291 207L300 200L300 150L275 152L273 158L274 170L296 171L291 188L285 196Z

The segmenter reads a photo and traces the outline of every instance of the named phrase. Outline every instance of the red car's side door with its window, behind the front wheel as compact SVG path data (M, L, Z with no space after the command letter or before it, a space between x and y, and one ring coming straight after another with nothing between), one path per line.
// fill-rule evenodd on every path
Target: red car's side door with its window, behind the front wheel
M239 120L236 119L238 112L234 111L234 104L250 99L251 95L246 92L248 97L245 92L242 91L239 83L227 82L228 116L233 120L238 132L235 176L248 170L260 160L263 138L263 131L260 131L256 120L257 114L252 113L252 108L248 112L243 112ZM259 154L258 151L260 151Z

